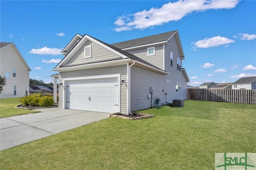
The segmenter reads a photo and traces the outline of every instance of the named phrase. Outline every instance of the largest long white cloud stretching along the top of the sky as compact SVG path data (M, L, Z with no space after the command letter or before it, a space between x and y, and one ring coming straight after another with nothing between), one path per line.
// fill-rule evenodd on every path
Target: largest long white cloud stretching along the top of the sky
M209 9L231 9L238 2L238 0L179 0L178 2L169 2L160 8L151 8L150 10L143 10L134 14L117 17L114 24L118 27L115 30L118 32L159 26L170 21L181 20L184 16L192 12L202 12Z

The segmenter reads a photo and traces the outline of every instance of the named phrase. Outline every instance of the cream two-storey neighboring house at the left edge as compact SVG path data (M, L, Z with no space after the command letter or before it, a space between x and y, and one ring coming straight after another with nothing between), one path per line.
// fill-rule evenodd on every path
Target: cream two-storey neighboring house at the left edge
M0 56L0 74L7 79L0 98L28 95L31 69L14 43L1 42Z

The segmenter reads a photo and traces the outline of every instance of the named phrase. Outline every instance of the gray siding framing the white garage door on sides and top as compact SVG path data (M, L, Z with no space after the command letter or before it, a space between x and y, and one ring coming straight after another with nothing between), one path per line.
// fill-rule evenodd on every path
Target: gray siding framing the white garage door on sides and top
M118 65L112 67L100 67L95 69L81 69L76 71L60 72L60 83L64 78L87 77L96 75L121 74L121 79L127 79L127 65ZM121 113L127 114L127 84L123 83L120 87ZM60 108L63 108L63 86L60 87Z

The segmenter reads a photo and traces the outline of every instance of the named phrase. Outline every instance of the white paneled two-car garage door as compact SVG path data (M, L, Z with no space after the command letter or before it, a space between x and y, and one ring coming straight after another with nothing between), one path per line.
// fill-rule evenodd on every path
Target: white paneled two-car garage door
M67 81L67 109L116 113L118 78Z

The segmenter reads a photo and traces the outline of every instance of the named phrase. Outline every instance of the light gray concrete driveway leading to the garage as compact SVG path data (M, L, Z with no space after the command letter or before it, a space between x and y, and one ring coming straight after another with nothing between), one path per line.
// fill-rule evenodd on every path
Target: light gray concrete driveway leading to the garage
M0 150L5 150L109 117L110 113L71 109L37 109L41 113L0 119Z

